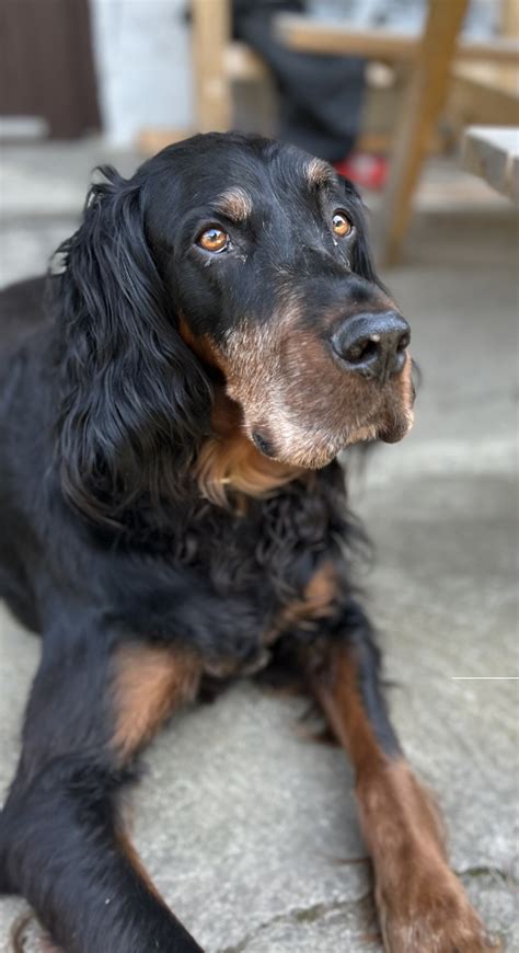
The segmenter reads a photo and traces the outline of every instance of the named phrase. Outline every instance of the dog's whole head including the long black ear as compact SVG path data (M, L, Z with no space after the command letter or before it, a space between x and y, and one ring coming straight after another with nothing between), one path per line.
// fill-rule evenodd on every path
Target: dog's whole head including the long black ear
M90 476L137 492L147 472L160 493L222 407L227 433L298 468L404 436L410 329L374 275L360 199L327 163L210 134L129 181L103 171L65 246L69 491Z

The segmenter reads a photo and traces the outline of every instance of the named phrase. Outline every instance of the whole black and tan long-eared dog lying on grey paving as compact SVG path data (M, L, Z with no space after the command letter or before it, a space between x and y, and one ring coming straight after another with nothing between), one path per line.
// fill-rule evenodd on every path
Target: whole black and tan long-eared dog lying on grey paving
M0 589L44 642L1 887L70 953L199 950L120 792L205 679L276 664L353 759L387 950L488 949L350 582L335 458L399 440L413 404L410 329L359 198L326 163L238 135L103 172L45 295L2 295Z

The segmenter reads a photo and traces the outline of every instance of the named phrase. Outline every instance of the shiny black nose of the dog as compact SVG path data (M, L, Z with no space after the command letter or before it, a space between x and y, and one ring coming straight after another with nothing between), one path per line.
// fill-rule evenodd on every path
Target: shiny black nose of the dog
M348 370L381 382L400 374L411 338L397 311L348 318L332 337L332 347Z

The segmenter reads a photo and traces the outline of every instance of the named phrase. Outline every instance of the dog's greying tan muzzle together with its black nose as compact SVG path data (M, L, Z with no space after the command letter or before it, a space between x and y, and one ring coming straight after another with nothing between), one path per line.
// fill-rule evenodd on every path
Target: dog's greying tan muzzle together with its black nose
M345 322L337 340L330 329L305 326L297 310L278 324L243 322L217 355L240 429L264 457L315 470L353 444L394 444L410 430L408 324L389 309Z

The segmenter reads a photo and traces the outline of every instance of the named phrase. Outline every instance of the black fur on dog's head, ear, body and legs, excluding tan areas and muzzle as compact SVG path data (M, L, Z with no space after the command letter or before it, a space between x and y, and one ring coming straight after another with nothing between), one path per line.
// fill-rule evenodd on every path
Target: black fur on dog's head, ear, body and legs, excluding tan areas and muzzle
M176 644L208 670L254 667L263 633L327 561L338 581L333 611L319 632L285 633L282 652L313 646L318 657L338 639L360 646L367 711L384 749L397 750L354 596L349 548L361 535L347 516L342 468L332 462L310 482L296 474L242 508L232 487L228 506L200 497L194 471L222 379L186 343L180 317L215 345L239 307L266 324L275 303L267 252L282 257L285 242L289 254L290 216L296 233L300 221L309 228L313 199L298 184L307 161L263 139L212 135L165 150L129 181L105 168L47 297L39 278L1 296L0 593L43 632L44 647L0 819L0 885L22 892L67 951L199 949L118 848L118 792L132 776L111 749L122 645ZM261 195L270 168L276 182L285 176L278 204L288 198L279 227L257 226L254 253L246 239L243 255L254 254L260 272L245 282L230 266L223 282L211 263L200 271L194 209L209 188L244 176ZM367 310L381 286L360 200L347 183L334 188L357 231L347 278L321 222L291 273L310 274L330 307L349 295Z

